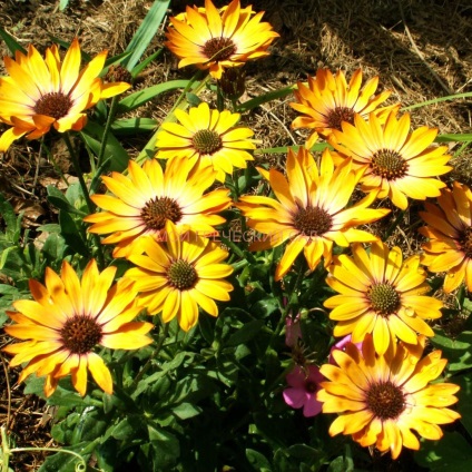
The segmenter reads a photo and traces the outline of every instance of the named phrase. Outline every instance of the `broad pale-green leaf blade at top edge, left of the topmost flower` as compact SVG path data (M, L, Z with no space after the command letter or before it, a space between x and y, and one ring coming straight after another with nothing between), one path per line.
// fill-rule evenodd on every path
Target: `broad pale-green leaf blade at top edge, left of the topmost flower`
M149 42L154 39L164 17L169 8L170 0L156 0L139 26L135 36L129 41L126 51L132 51L131 56L122 61L122 66L128 70L138 63Z

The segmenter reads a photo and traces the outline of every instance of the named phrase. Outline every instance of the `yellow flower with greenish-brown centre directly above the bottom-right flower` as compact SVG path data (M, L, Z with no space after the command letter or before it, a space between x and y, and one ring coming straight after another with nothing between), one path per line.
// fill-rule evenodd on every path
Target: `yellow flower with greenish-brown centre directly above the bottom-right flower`
M361 343L373 333L378 354L395 337L416 344L416 333L434 336L424 319L441 317L443 304L424 296L431 288L420 256L403 260L399 247L389 249L382 242L373 243L370 254L360 244L352 249L352 257L341 255L328 267L326 283L340 293L324 303L332 308L330 318L338 322L334 336L352 334L352 342Z

